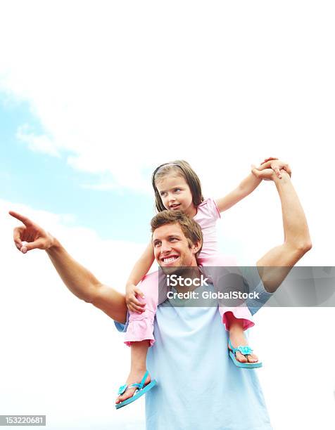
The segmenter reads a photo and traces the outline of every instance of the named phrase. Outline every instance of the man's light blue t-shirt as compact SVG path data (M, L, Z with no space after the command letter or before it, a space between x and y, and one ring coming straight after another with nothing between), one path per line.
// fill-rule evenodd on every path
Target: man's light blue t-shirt
M258 274L253 271L248 278L255 278L251 289L260 292L263 301L271 296ZM210 289L214 292L213 285L206 287ZM156 342L148 349L146 365L158 384L146 393L146 429L272 429L259 370L241 369L229 358L228 332L218 309L187 307L184 302L185 307L175 307L172 299L166 300L157 309ZM260 306L251 304L251 312Z

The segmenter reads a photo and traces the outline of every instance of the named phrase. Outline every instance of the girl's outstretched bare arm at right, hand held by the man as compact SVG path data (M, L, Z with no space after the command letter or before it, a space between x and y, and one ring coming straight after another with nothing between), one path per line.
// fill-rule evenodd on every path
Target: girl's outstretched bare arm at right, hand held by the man
M285 169L291 176L291 169L289 164L286 164L278 159L267 159L261 164L258 170L273 169L277 176L281 178L280 169ZM240 200L244 199L247 195L253 192L255 188L262 182L261 178L258 178L254 174L249 174L244 180L229 194L225 195L221 199L216 200L217 207L220 212L226 211Z

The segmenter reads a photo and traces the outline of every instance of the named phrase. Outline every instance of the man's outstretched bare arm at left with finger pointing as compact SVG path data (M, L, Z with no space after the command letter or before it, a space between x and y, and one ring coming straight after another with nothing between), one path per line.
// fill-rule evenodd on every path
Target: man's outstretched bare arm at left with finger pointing
M25 254L31 249L44 249L70 292L101 309L113 320L125 323L127 306L123 294L101 284L91 272L72 259L55 237L36 223L16 212L10 211L9 214L24 224L14 228L14 242L20 252Z

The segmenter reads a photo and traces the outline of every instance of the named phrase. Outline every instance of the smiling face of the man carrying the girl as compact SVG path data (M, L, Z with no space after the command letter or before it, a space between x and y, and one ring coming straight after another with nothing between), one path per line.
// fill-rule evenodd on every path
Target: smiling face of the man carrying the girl
M165 224L153 232L153 252L162 268L198 266L195 256L198 248L198 244L189 247L178 223Z

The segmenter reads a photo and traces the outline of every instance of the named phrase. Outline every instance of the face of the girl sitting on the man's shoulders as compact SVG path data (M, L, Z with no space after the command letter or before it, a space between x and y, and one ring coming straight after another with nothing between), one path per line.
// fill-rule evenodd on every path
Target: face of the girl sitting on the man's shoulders
M166 209L183 211L192 218L196 215L191 190L183 176L166 174L156 181L156 187Z

